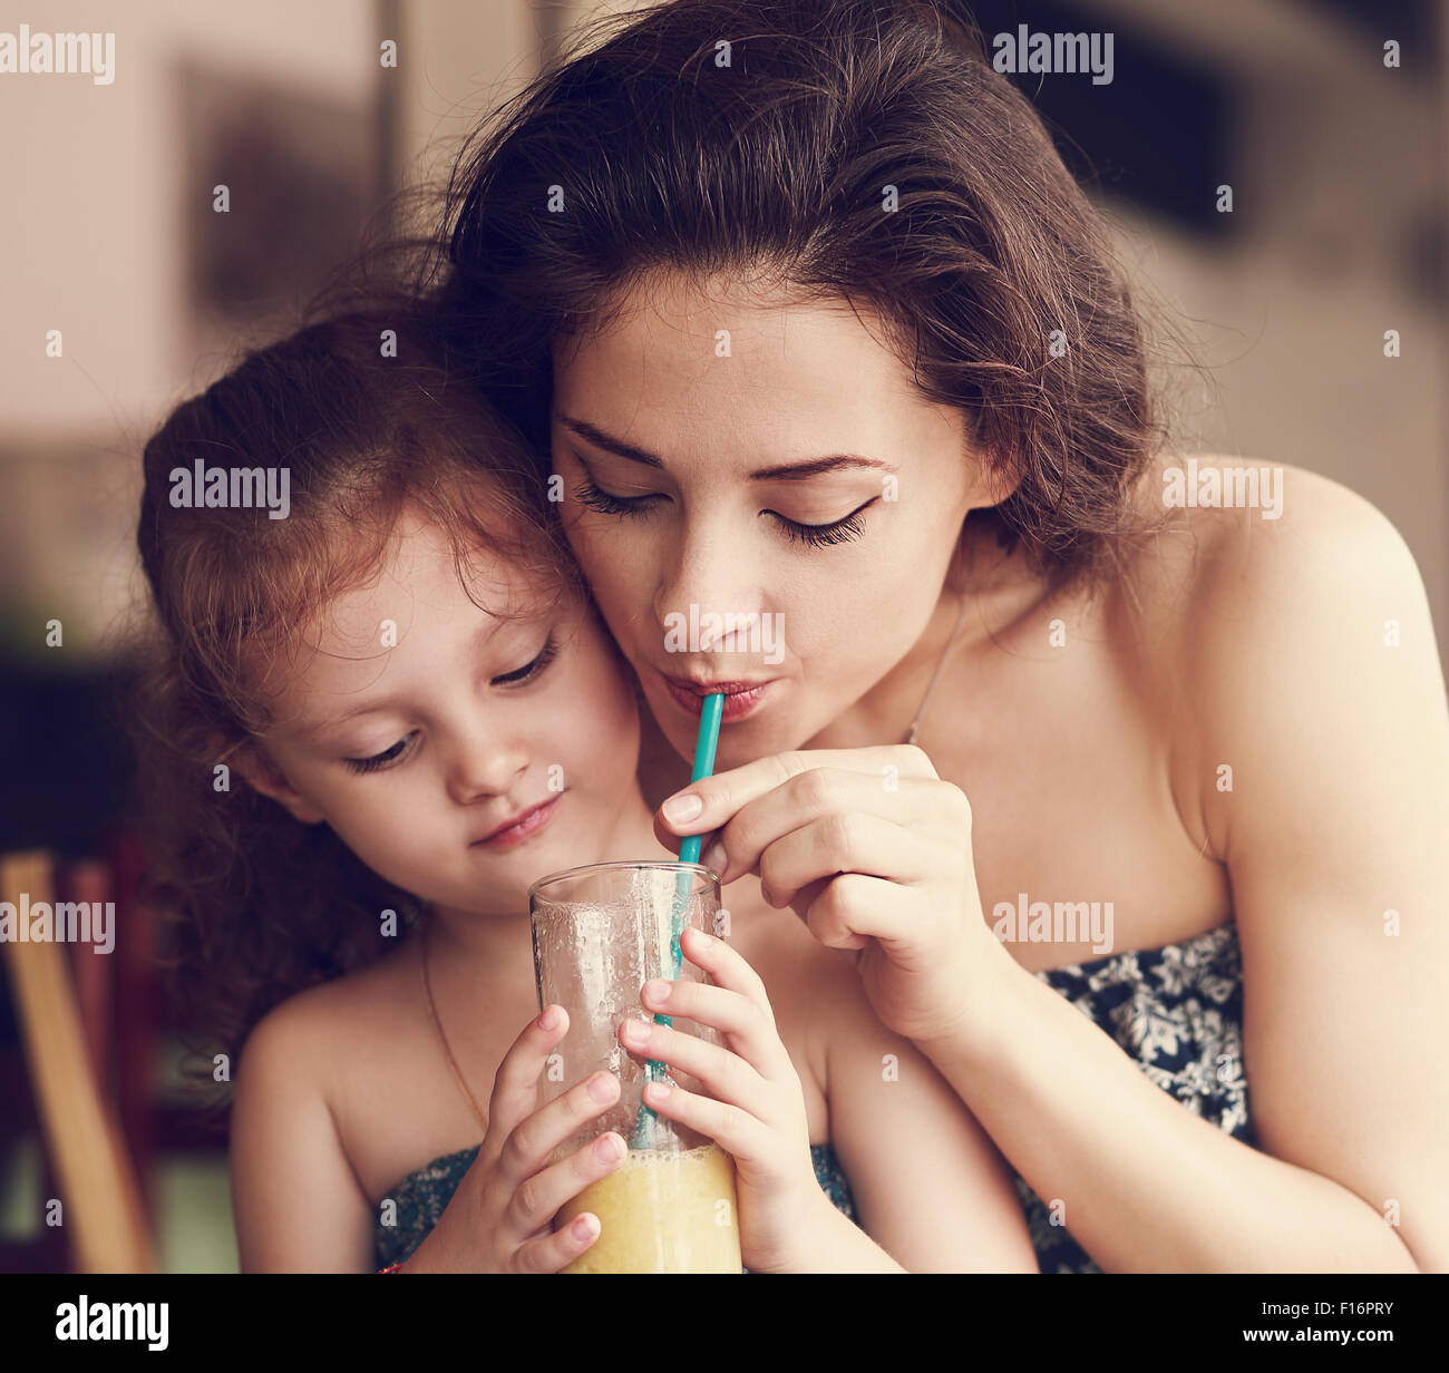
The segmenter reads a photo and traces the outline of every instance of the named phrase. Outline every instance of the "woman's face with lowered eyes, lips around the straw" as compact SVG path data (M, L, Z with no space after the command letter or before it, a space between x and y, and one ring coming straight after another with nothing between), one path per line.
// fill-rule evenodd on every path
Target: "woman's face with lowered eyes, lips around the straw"
M720 768L800 747L906 656L995 501L961 413L865 319L669 278L555 343L568 537L685 757L698 694L671 678L768 684L726 697Z

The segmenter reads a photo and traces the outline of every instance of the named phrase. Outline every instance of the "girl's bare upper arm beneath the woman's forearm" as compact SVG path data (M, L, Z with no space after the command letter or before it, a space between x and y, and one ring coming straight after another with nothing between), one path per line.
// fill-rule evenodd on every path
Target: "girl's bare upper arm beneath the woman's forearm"
M819 962L830 1143L859 1224L909 1272L1036 1273L997 1147L930 1060L877 1020L855 954L820 950Z

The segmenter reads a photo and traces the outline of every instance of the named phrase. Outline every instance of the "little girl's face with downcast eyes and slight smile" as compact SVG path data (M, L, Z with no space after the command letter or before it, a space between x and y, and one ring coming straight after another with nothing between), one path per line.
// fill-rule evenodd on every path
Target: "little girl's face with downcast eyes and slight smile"
M478 572L483 604L529 604L496 559ZM538 878L617 856L639 717L585 605L493 618L445 534L404 517L380 576L306 639L317 652L298 655L261 740L274 766L254 778L298 820L325 820L406 891L481 914L517 914ZM540 802L532 828L503 828Z

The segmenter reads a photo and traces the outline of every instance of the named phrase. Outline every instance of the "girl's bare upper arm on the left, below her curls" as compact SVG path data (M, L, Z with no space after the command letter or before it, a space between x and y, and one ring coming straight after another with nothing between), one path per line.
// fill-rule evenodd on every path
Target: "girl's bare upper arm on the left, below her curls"
M232 1098L232 1209L243 1273L372 1272L372 1206L312 1072L306 994L252 1031Z

